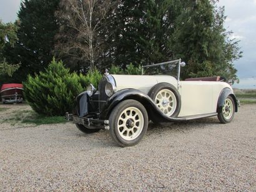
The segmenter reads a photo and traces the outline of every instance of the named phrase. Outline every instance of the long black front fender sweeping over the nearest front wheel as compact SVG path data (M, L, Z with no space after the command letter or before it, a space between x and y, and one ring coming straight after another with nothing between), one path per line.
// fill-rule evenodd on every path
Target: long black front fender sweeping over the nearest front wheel
M140 90L137 89L123 89L116 92L114 95L112 95L106 102L106 105L104 106L102 112L101 112L101 119L108 119L109 115L111 114L112 110L116 105L118 105L123 100L127 99L133 99L137 100L138 102L142 103L144 105L145 109L147 110L147 113L149 115L149 118L154 115L154 117L158 118L160 122L180 122L184 121L184 118L173 118L173 117L167 117L164 115L164 113L161 112L161 110L155 105L153 100L149 97L149 95L144 94Z

